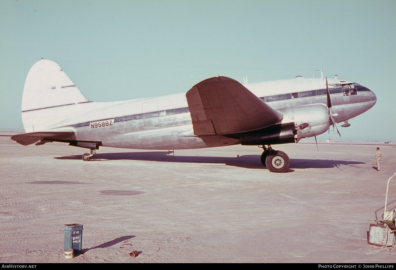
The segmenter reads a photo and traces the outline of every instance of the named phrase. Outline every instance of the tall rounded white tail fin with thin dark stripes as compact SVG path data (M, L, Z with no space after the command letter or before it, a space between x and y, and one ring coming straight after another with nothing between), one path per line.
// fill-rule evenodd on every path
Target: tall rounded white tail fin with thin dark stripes
M30 68L23 88L22 122L26 132L42 131L57 122L58 111L89 101L61 67L51 61L36 62Z

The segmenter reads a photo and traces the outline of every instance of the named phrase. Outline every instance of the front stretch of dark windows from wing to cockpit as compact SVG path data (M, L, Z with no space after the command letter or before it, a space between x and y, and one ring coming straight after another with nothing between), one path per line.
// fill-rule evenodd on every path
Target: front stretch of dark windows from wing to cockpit
M352 92L352 89L349 89L348 91ZM355 86L355 88L353 88L353 91L357 93L357 92L370 91L370 90L364 86L358 85ZM330 88L329 92L330 94L344 93L344 96L349 96L345 94L345 89L341 87ZM280 101L280 100L295 99L295 98L309 98L314 96L326 96L326 89L308 90L302 92L266 96L261 98L261 100L263 100L264 102L271 102L271 101Z

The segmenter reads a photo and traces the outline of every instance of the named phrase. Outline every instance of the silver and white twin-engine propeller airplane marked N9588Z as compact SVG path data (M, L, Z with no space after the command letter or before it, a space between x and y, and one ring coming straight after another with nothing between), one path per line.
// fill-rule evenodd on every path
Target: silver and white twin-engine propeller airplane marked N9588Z
M22 97L26 133L22 145L67 142L90 150L99 146L175 150L235 144L263 148L261 163L286 172L289 157L272 145L315 137L374 106L377 98L352 81L303 78L241 84L216 76L187 93L115 102L87 99L61 67L43 58L30 69ZM341 136L341 135L340 135Z

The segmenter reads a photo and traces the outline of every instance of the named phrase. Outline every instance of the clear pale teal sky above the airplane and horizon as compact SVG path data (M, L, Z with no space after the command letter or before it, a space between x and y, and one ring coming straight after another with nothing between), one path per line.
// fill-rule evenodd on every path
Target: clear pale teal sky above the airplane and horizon
M394 0L0 0L0 129L23 130L23 85L43 57L93 101L187 92L215 75L253 83L323 69L377 95L339 127L341 139L395 142L395 14Z

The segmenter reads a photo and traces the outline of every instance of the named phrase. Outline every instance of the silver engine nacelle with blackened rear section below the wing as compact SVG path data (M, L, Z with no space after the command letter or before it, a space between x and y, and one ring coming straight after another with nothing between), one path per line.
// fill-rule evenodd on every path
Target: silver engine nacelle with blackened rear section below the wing
M264 145L298 142L301 138L313 137L329 129L329 111L321 103L302 105L278 110L282 122L243 136L242 145Z

